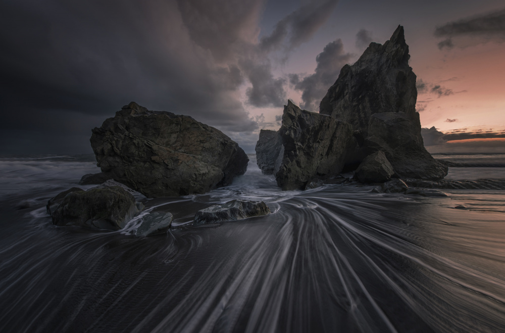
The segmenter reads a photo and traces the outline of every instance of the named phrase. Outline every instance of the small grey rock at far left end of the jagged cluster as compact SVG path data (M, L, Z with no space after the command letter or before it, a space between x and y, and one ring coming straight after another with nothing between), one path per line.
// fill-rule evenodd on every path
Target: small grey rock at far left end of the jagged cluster
M255 150L258 167L264 174L273 174L276 170L278 156L282 150L282 138L279 132L262 129Z

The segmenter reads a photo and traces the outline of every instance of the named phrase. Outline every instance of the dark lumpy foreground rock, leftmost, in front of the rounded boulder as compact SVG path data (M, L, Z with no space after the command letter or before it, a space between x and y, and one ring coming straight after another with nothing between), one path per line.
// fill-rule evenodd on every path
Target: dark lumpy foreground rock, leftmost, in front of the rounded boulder
M122 229L139 212L135 198L120 186L73 187L49 200L47 211L58 226L107 230Z

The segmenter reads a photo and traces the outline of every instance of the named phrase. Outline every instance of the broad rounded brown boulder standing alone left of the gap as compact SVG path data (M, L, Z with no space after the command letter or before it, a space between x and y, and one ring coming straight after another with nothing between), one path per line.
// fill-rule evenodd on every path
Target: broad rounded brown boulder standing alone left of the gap
M216 128L134 102L92 132L91 147L102 171L150 198L228 185L249 161Z

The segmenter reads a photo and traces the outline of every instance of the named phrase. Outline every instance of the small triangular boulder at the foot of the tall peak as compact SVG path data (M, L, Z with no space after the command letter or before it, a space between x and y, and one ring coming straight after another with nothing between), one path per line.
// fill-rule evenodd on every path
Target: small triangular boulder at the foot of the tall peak
M381 151L367 156L356 169L355 177L363 183L385 182L394 174L391 163Z

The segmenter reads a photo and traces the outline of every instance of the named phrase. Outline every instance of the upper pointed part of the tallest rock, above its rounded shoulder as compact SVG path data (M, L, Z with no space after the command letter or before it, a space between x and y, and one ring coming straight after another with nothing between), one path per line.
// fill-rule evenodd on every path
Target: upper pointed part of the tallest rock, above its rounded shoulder
M413 116L417 89L409 58L403 27L398 26L384 45L370 43L354 65L340 70L321 101L320 113L350 123L364 136L374 113L403 112Z

